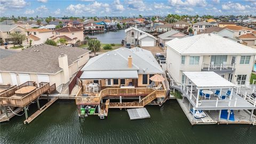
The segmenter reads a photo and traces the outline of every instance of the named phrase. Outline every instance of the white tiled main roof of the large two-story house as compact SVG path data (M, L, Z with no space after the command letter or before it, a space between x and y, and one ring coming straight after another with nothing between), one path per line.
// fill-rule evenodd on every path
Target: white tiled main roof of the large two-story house
M211 54L256 54L256 50L215 34L199 34L185 38L175 38L166 43L182 55Z

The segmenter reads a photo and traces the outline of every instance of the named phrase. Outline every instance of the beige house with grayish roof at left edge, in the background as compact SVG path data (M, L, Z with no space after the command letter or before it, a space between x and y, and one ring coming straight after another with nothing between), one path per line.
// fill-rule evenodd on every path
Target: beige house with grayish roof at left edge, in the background
M9 37L11 33L18 33L26 35L26 28L19 25L1 25L0 26L0 39L3 39L5 43L11 43L12 39Z

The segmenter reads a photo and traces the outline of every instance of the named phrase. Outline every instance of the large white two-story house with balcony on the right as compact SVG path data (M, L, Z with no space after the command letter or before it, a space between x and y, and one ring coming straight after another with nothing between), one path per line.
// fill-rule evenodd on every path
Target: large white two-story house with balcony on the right
M214 71L230 82L250 81L256 50L215 34L175 38L166 43L167 71L183 83L182 71Z

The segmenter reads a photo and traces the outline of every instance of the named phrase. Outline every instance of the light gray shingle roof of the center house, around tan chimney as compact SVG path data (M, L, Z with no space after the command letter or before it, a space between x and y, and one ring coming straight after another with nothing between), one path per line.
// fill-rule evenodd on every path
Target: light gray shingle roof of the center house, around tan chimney
M128 57L132 56L132 67L128 67ZM154 55L139 47L119 49L109 51L91 58L83 71L115 71L115 70L137 70L140 74L162 74L163 69L159 66ZM120 72L122 73L122 72Z

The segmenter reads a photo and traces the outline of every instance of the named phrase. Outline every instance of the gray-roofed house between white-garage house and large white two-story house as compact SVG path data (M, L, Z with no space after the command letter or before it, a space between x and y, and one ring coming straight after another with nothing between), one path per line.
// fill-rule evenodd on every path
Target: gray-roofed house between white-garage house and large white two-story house
M158 42L160 45L165 46L166 42L169 42L174 38L183 38L183 37L188 37L188 35L183 34L177 30L170 30L170 31L167 31L166 33L158 35Z

